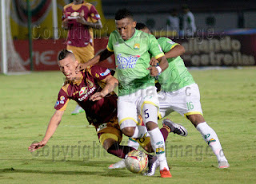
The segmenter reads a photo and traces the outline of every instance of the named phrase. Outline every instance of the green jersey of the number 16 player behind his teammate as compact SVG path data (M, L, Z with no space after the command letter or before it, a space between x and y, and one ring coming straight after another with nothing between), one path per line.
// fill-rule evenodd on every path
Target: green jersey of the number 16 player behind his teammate
M178 45L167 37L158 38L158 43L164 53ZM158 82L165 92L173 92L187 85L194 84L193 76L186 69L182 57L167 59L169 67L158 76Z

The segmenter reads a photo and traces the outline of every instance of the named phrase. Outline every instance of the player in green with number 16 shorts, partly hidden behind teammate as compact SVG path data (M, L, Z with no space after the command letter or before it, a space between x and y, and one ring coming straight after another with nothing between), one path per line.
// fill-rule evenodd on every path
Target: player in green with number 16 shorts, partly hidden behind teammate
M150 33L150 30L142 23L138 23L136 29ZM158 93L160 115L165 117L175 111L190 119L190 122L194 124L202 138L214 151L218 159L218 167L229 167L217 134L202 116L198 84L194 82L193 76L188 72L182 57L180 57L185 52L184 47L166 37L158 38L158 43L169 62L168 69L158 76L158 82L162 88L162 91ZM154 58L153 60L150 63L158 62ZM169 121L169 119L164 119L163 122L165 121Z

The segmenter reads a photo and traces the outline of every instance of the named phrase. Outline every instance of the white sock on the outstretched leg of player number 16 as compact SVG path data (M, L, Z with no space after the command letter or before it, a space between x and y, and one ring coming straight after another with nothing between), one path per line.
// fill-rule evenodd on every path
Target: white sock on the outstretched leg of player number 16
M199 123L197 130L200 131L202 138L208 143L214 154L216 155L218 162L227 162L224 152L222 151L222 145L218 140L218 136L206 122Z

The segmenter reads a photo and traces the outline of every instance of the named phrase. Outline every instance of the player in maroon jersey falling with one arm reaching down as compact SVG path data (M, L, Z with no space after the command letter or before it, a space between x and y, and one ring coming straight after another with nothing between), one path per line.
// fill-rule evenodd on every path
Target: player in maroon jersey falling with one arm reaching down
M31 144L29 150L35 151L48 143L62 120L69 100L75 100L86 110L88 122L96 128L99 142L102 143L103 148L108 153L124 159L126 154L134 148L119 145L122 141L122 131L117 119L117 96L110 93L118 84L118 80L110 75L109 69L100 66L93 66L86 71L76 72L78 61L74 54L66 49L59 53L58 65L66 76L66 83L63 84L58 93L58 100L54 106L56 112L50 119L46 135L41 142ZM106 85L101 88L99 83ZM109 95L106 96L107 94ZM184 127L170 123L162 127L161 132L167 137L170 131L178 133L177 130L179 129L186 131ZM142 145L142 147L144 146ZM145 147L145 149L152 152L150 146ZM154 161L155 158L149 155L149 161L152 162L151 160Z

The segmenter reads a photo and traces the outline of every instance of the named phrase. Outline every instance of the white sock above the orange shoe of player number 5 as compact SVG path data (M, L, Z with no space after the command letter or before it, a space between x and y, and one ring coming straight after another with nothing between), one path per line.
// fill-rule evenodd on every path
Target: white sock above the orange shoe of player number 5
M154 128L152 131L148 131L150 135L151 145L154 148L154 152L156 153L158 160L160 162L160 170L166 168L169 170L167 161L166 161L166 146L159 128Z

